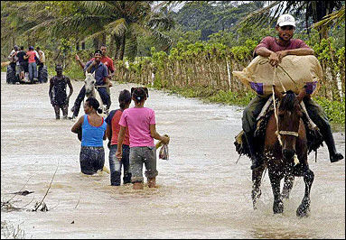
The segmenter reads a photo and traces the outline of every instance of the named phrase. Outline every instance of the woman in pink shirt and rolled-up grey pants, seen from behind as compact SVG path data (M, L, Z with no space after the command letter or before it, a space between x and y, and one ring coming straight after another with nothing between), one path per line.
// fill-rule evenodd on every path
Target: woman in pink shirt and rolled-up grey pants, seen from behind
M119 125L120 131L117 138L117 159L122 157L122 145L126 127L130 134L130 169L131 181L134 189L143 189L143 163L145 163L145 176L148 187L155 187L156 170L156 148L154 139L169 143L169 138L156 132L154 110L145 107L148 97L147 88L131 88L132 99L135 106L127 108L121 115Z

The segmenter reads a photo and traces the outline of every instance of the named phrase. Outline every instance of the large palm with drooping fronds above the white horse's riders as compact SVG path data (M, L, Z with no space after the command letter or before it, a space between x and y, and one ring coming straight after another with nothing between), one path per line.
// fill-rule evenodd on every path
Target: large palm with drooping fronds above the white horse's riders
M64 16L54 24L53 32L78 32L87 40L110 35L115 45L115 60L123 60L125 47L130 57L136 56L136 39L141 34L152 35L157 41L171 44L161 31L173 27L173 20L154 13L150 1L81 1L77 14ZM126 42L129 44L126 45Z

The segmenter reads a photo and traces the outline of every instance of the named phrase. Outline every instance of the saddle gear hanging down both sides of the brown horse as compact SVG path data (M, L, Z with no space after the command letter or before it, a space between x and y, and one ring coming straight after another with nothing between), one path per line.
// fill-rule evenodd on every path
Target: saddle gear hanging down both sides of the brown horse
M276 106L278 105L278 99L276 98ZM304 102L302 101L301 106L303 108L303 123L306 131L307 138L307 150L308 154L312 151L316 152L320 146L323 146L323 135L320 132L320 129L313 124L313 121L310 119L309 115L306 112ZM261 113L257 116L257 128L254 133L254 140L256 143L255 151L258 155L262 155L264 150L265 135L267 130L267 124L269 118L274 113L274 104L273 98L269 97L265 106L263 106ZM242 154L251 157L248 150L248 143L245 139L244 131L241 131L236 137L234 142L236 146L236 151L241 156Z

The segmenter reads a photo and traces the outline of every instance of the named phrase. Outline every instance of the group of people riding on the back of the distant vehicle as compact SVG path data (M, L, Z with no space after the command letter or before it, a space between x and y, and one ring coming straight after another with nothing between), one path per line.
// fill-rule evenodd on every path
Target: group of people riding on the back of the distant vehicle
M38 79L38 69L41 69L45 62L44 52L40 47L33 49L33 46L29 46L27 51L24 51L24 47L20 48L15 45L14 49L8 56L12 69L15 69L16 74L24 82L40 81Z

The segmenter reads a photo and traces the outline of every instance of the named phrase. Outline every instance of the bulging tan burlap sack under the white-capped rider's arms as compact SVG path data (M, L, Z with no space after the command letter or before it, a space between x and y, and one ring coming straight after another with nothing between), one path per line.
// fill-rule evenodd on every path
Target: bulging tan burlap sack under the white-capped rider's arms
M247 68L232 73L257 95L267 97L272 94L274 67L269 64L268 58L257 56L248 64ZM292 90L295 93L306 85L306 92L314 94L317 92L318 83L322 78L323 70L316 57L313 55L288 55L276 67L274 84L281 92Z

